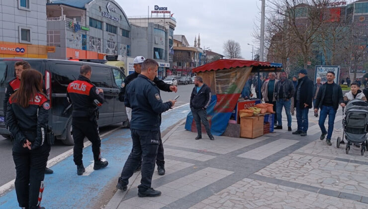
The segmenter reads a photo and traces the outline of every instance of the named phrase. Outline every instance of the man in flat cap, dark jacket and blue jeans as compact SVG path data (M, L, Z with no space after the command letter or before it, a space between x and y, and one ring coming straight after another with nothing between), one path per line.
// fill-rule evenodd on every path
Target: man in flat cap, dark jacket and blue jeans
M296 107L296 121L298 129L292 134L306 136L308 130L308 111L312 108L313 81L307 76L307 70L299 71L298 85L294 94L294 106Z

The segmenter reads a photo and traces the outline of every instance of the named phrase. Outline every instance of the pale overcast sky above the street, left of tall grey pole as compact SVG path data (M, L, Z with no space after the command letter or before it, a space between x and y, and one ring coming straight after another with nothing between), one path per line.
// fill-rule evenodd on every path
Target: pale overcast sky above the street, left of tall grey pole
M252 32L256 16L260 13L260 0L116 0L127 16L148 15L148 6L168 7L176 18L174 34L185 35L190 45L200 34L200 45L223 54L223 44L228 39L240 43L242 56L252 58L254 43ZM259 46L255 46L256 51Z

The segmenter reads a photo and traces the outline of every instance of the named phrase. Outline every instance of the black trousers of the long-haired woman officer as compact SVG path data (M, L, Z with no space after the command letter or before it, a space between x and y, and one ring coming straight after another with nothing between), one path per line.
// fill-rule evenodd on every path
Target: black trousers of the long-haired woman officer
M46 142L34 150L13 143L13 160L16 170L15 193L20 208L36 209L40 206L49 153L50 145Z

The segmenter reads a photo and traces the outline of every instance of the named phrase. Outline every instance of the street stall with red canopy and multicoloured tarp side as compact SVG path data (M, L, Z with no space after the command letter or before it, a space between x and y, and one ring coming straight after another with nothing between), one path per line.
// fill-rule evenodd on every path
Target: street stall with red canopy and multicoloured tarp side
M243 59L220 59L194 68L192 72L202 77L203 83L211 89L211 102L207 108L207 119L211 126L211 133L217 136L223 135L228 125L234 123L233 121L229 123L229 119L236 106L238 107L236 114L238 114L239 107L244 106L244 104L239 103L239 96L251 73L258 73L258 78L260 78L262 72L280 72L281 68L282 65L279 63ZM258 83L259 89L261 89L262 84ZM260 101L250 103L254 105ZM238 116L235 120L237 123ZM186 117L185 129L197 132L191 112ZM204 127L202 127L202 132L205 133Z

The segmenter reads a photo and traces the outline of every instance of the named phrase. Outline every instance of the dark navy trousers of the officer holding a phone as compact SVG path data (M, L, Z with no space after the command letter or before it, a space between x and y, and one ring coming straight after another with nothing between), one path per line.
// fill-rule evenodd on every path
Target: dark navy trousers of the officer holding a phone
M128 185L129 178L133 175L139 162L143 158L141 171L142 179L141 184L138 186L139 192L144 192L148 188L151 188L157 151L160 145L159 132L160 130L131 129L133 151L124 164L119 180L125 185Z

